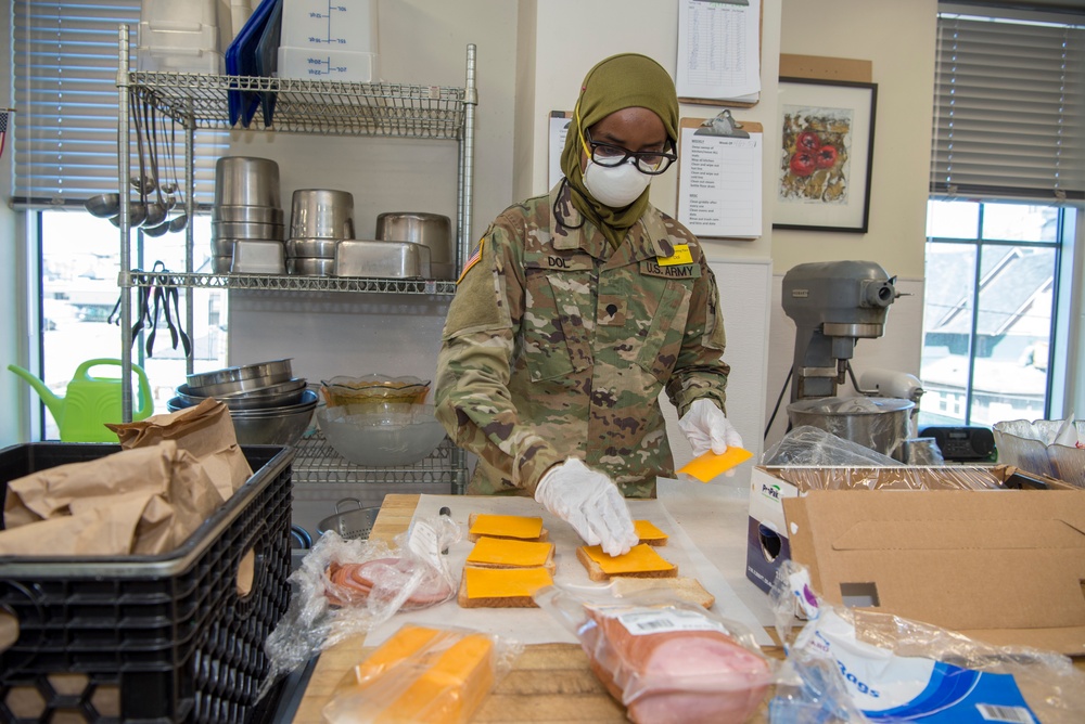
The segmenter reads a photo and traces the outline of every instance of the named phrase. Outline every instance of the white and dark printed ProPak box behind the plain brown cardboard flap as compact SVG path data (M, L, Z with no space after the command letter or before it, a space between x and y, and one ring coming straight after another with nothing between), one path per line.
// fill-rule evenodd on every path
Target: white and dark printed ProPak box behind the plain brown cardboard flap
M780 564L791 558L783 501L812 489L959 489L995 488L1004 479L990 467L768 467L750 476L750 521L746 530L746 578L768 592ZM831 481L831 482L830 482Z

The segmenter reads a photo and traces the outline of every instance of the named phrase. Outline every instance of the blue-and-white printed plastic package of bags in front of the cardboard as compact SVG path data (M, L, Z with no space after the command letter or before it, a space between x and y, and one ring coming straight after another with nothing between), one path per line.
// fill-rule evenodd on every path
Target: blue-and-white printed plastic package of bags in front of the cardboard
M769 703L774 723L1069 724L1085 711L1085 673L1060 654L993 646L928 623L826 604L793 561L780 567L770 599L788 655ZM796 606L808 621L793 635Z

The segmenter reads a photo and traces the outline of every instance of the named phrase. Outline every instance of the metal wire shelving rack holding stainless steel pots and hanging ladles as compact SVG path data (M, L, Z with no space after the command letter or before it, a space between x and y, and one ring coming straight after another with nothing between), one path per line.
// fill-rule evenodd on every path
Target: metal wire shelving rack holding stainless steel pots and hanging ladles
M119 189L128 188L131 172L129 144L131 132L128 112L130 94L139 103L152 106L163 117L184 129L186 212L196 212L193 202L194 132L199 128L229 129L231 93L240 98L252 94L273 94L276 100L271 125L254 122L248 130L266 132L369 135L418 140L455 141L458 144L456 259L459 268L469 254L468 232L471 229L472 178L474 173L474 109L475 46L467 47L467 73L462 88L407 83L356 83L327 80L297 80L216 76L194 73L132 72L129 62L129 28L118 28L118 163ZM238 98L238 96L235 96ZM184 325L193 327L192 289L222 288L269 292L344 292L401 295L447 295L455 282L419 279L363 279L333 276L204 274L194 273L192 224L186 228L186 267L183 273L168 272L156 276L131 269L131 208L127 194L120 194L120 273L119 320L122 331L122 375L131 371L131 295L125 292L151 284L180 287L186 290ZM188 361L192 372L192 361ZM122 386L122 414L131 421L131 389ZM465 479L464 453L447 438L425 460L403 468L363 468L345 461L319 432L297 445L294 462L295 480L299 482L448 482L462 492Z

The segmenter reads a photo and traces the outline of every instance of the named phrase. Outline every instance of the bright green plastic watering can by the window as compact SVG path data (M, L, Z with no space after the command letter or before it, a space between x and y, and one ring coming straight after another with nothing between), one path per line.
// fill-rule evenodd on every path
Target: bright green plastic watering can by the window
M93 377L90 370L100 365L120 366L120 360L88 360L80 364L68 383L64 397L56 397L46 384L23 367L9 364L8 369L30 384L38 391L42 402L56 421L61 440L66 442L116 442L117 435L105 423L122 422L119 377ZM132 372L139 378L139 396L132 403L132 421L145 419L154 411L151 398L151 383L146 373L138 364ZM138 406L136 402L138 401Z

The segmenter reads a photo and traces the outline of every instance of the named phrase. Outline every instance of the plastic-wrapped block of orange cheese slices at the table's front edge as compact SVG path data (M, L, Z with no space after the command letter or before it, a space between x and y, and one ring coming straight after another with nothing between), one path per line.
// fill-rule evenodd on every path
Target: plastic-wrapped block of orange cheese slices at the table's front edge
M346 673L323 719L329 724L463 724L522 648L463 629L404 625Z

